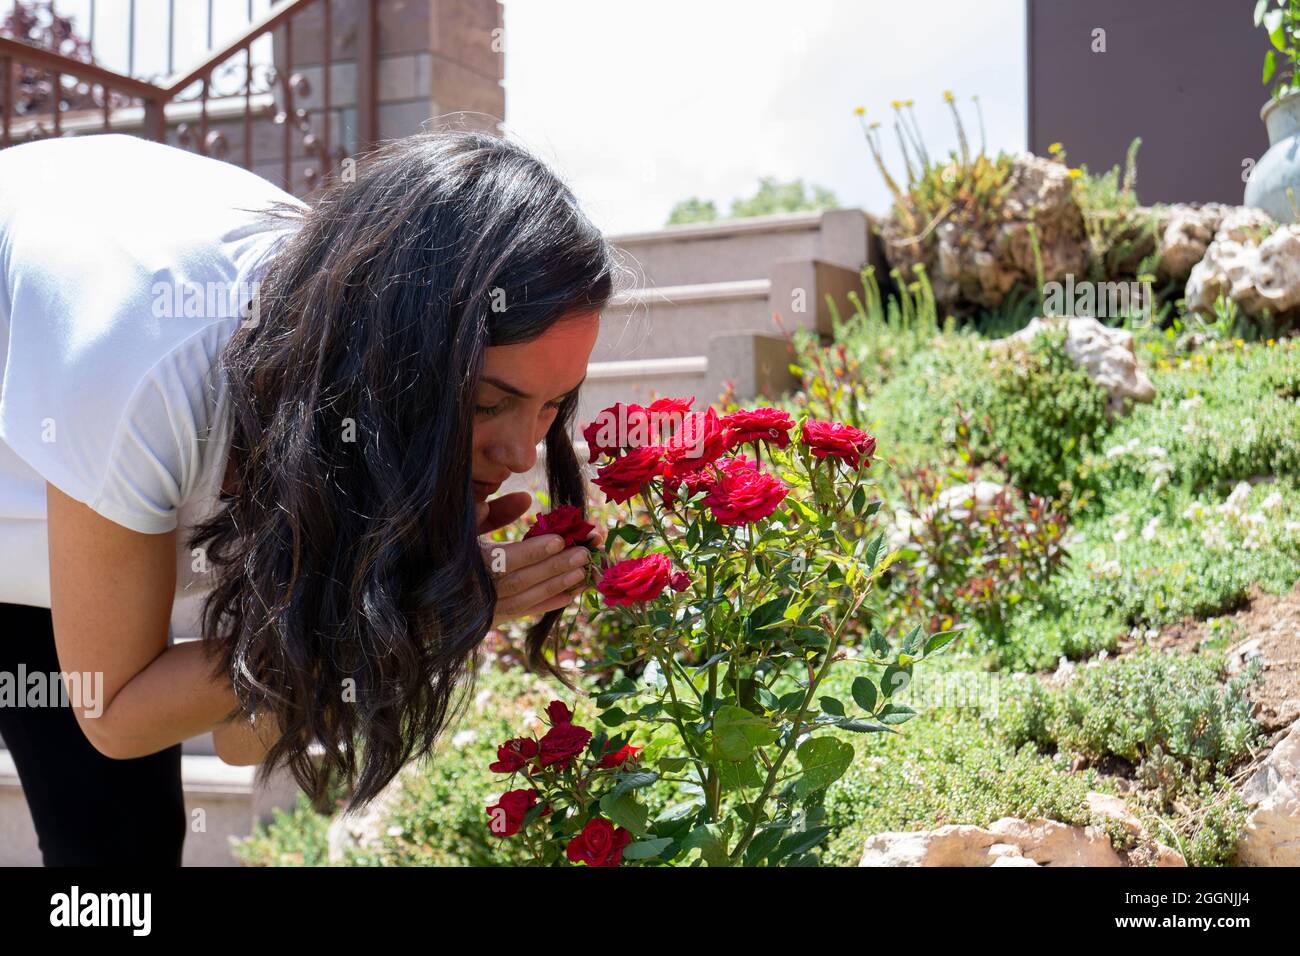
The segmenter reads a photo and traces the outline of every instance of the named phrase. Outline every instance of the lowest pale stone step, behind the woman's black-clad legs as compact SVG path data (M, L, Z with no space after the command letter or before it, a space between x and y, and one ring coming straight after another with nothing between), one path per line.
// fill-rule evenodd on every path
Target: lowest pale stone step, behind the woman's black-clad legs
M237 866L230 853L231 838L248 836L254 821L269 822L274 808L294 806L299 788L291 774L277 771L259 787L254 783L255 770L188 753L182 744L181 779L190 819L182 853L185 866ZM0 748L0 866L40 865L36 831L17 767L9 750Z

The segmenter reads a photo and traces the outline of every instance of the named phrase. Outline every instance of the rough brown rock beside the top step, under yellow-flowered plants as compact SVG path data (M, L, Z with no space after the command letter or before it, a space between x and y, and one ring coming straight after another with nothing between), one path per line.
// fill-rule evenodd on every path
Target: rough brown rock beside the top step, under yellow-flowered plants
M1028 229L1032 221L1044 281L1083 274L1088 241L1069 169L1020 153L1013 157L1009 181L998 209L958 206L937 225L907 222L892 215L880 228L889 264L909 282L913 267L923 265L944 310L993 308L1017 282L1037 286L1035 243ZM994 216L983 219L988 212Z

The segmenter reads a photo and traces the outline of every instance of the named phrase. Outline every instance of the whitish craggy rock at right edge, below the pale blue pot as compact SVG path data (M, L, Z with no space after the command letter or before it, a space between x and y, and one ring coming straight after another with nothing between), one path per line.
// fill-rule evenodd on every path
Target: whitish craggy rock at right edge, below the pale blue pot
M1260 241L1258 222L1242 216L1221 228L1187 278L1188 311L1210 316L1225 297L1248 319L1300 313L1300 225L1278 226ZM1235 238L1234 238L1235 237Z

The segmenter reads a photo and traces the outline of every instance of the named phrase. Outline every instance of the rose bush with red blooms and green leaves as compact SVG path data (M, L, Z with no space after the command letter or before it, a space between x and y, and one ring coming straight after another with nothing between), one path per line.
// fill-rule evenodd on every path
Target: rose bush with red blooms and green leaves
M632 635L599 662L618 676L594 696L595 730L555 701L546 734L491 765L511 790L490 829L541 864L806 861L853 761L846 735L897 732L913 713L894 692L956 633L890 640L866 620L893 557L874 527L872 436L693 403L620 403L582 429L595 486L647 520L611 529L585 598ZM590 525L558 509L538 527L582 540ZM852 654L850 626L868 635ZM833 667L857 669L852 701L827 695Z

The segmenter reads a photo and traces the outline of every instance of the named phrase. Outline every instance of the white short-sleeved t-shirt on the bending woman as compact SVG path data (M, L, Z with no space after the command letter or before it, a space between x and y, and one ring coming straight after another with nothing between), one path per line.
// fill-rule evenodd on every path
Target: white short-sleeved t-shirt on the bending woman
M0 602L49 606L48 481L133 531L177 529L169 636L200 636L211 574L185 541L225 475L216 363L290 232L259 215L277 199L307 208L125 134L0 150Z

